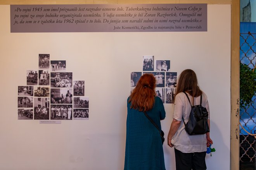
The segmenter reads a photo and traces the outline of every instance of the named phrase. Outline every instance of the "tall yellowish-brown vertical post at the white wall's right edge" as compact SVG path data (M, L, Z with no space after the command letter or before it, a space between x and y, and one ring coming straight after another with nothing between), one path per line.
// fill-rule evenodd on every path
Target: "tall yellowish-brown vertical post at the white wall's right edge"
M230 169L239 170L240 0L231 2L231 131Z

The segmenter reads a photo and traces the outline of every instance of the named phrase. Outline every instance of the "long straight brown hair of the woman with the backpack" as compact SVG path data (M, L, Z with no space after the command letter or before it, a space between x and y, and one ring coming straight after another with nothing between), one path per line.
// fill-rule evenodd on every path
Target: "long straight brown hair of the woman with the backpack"
M197 77L193 70L183 70L182 73L180 74L176 88L176 95L180 92L187 92L190 95L192 95L193 104L194 97L198 97L202 94L202 90L199 88Z

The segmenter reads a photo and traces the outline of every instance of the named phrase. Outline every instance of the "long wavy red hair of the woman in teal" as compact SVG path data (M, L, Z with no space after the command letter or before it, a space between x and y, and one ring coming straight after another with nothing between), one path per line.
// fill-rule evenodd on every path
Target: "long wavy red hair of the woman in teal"
M154 75L142 75L128 100L131 103L130 108L139 111L151 110L155 104L155 88L156 79Z

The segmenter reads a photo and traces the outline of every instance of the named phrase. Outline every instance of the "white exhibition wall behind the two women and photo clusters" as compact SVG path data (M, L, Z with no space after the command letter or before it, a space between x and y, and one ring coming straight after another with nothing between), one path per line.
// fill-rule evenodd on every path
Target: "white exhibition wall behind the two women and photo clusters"
M178 75L187 68L197 73L216 149L207 155L208 169L230 169L230 5L208 5L207 32L10 33L9 15L10 6L0 5L0 169L123 169L130 72L142 71L143 55L171 60ZM89 120L17 120L17 87L26 85L26 70L38 69L42 53L66 60L74 80L85 80ZM165 109L167 137L173 105ZM166 142L164 155L166 169L174 170Z

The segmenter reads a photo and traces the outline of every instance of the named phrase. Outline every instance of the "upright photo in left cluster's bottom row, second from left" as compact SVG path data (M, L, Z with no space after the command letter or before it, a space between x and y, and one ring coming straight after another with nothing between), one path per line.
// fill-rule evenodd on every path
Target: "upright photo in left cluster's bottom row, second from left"
M50 118L50 98L39 97L34 98L34 119L35 120L49 120Z

